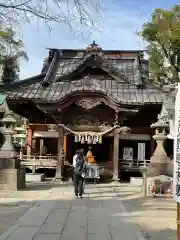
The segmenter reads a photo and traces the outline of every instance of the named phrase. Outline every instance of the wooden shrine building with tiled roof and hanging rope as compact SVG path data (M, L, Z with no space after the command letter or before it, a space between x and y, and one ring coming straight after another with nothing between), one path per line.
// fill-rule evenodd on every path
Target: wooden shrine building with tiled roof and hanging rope
M143 51L103 50L95 42L80 50L50 49L39 75L1 91L29 120L27 156L55 156L61 177L75 150L87 153L91 146L91 161L111 169L114 179L126 161L150 159L150 125L166 95L149 80Z

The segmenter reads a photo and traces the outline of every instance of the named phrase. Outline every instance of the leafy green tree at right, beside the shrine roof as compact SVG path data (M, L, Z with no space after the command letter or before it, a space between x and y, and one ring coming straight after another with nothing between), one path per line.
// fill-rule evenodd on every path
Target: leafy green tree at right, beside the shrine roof
M155 9L139 35L147 43L151 78L162 85L180 81L180 5Z

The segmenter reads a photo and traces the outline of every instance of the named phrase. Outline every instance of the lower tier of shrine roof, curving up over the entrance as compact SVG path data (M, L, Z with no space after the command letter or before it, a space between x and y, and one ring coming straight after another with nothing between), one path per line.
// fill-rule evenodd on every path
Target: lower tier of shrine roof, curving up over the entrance
M80 79L72 82L55 82L44 88L41 83L24 86L7 92L8 99L29 99L56 102L77 91L99 92L116 103L142 105L162 103L163 93L156 88L138 89L131 84L115 80Z

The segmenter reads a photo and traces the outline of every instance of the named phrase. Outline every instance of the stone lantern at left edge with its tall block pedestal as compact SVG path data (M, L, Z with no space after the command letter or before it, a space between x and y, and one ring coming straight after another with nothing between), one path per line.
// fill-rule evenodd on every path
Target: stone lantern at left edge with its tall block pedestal
M13 146L14 125L16 120L8 112L1 121L1 132L5 138L0 150L0 186L6 190L19 190L25 187L25 172Z

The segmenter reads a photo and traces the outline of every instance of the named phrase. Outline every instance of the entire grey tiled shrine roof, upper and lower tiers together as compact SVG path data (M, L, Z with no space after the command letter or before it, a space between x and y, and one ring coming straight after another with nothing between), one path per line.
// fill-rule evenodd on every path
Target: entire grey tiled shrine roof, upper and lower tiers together
M110 97L117 104L161 104L163 101L165 92L162 89L153 87L152 84L140 88L142 72L141 62L138 59L130 57L110 59L101 55L101 52L97 55L81 52L71 58L59 54L56 50L51 50L50 57L44 63L42 74L0 86L0 91L6 91L8 99L36 102L61 101L77 91L99 92ZM76 71L83 71L86 67L101 68L107 73L107 78L97 79L97 76L91 75L89 78L80 79L81 74L77 74L77 80L74 81L73 74Z

